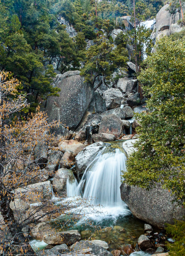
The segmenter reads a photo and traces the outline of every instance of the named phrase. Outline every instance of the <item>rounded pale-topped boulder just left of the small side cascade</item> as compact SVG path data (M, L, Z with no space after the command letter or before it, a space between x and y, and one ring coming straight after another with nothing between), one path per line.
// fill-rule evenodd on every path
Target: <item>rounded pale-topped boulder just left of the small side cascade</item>
M71 171L64 168L58 169L55 173L53 178L53 191L56 192L58 196L66 194L67 178L71 175Z

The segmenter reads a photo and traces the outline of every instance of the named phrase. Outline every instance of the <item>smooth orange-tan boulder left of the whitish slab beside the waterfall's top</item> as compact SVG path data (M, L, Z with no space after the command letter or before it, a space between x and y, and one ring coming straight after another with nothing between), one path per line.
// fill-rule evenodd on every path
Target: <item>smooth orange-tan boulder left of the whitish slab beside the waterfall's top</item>
M63 153L65 151L71 152L76 156L80 151L85 148L85 145L75 140L64 140L58 144L58 149Z

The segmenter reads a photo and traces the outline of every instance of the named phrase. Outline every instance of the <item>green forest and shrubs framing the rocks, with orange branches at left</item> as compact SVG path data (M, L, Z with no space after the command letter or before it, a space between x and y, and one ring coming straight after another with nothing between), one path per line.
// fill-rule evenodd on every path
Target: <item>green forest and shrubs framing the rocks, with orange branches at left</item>
M139 66L136 77L149 111L135 116L140 141L135 144L138 151L128 159L123 178L146 189L160 182L172 191L178 205L185 206L185 30L157 41L151 53L152 30L140 25L155 18L163 5L161 0L136 0L134 17L130 0L0 1L0 211L6 225L4 233L11 234L11 238L2 239L0 249L33 253L21 233L23 225L19 226L9 205L15 188L42 176L43 167L31 162L35 145L43 140L48 141L49 148L53 145L50 126L58 124L48 124L40 111L48 96L58 95L53 78L57 72L80 70L94 90L109 85L126 71L127 44L133 46L131 61ZM169 11L175 13L177 7L179 2L174 0ZM133 29L120 32L113 41L112 30L125 29L122 16L132 17ZM75 37L59 23L61 17L73 26ZM94 44L87 48L90 40ZM120 72L113 77L116 70ZM98 76L102 79L95 84ZM50 214L56 212L61 214L63 208L51 209ZM29 218L26 221L31 222ZM170 255L185 253L183 227L184 222L167 226L167 232L176 238L173 246L168 244Z

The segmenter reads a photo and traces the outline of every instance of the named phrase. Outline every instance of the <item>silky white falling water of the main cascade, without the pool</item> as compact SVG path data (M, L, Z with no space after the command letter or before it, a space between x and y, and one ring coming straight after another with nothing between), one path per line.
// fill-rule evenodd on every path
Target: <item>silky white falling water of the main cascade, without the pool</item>
M82 194L85 185L83 197L88 198L91 204L120 206L123 203L120 196L122 170L126 170L125 154L120 149L106 147L86 168L76 188L74 184L76 181L70 184L70 188L68 184L68 195Z

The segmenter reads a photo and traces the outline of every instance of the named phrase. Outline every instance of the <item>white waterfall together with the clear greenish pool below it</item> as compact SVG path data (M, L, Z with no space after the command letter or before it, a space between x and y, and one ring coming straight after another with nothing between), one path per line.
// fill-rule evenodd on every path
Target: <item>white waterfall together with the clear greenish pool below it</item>
M56 204L70 204L69 211L74 217L69 219L68 215L63 215L51 223L59 231L78 229L81 240L104 240L110 251L125 250L128 244L136 249L137 239L144 232L144 222L131 214L120 196L121 171L126 170L122 143L107 143L87 167L79 183L75 176L67 181L67 198ZM38 241L35 243L35 247L40 247ZM40 243L40 249L43 249L44 242ZM147 254L131 254L142 255Z

